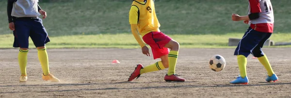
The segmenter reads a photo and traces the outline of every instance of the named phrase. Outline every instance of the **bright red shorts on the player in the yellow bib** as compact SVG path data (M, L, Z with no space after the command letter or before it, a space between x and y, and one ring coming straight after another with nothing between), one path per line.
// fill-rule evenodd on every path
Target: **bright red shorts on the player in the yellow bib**
M162 32L147 33L143 37L143 40L151 47L154 59L158 59L163 55L169 54L169 49L164 46L168 44L172 38Z

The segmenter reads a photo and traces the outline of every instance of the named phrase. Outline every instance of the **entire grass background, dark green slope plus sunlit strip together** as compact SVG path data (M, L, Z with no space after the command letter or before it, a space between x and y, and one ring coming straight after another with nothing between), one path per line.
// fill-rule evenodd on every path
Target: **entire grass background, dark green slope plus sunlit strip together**
M0 0L0 48L11 48L13 41L6 1ZM43 20L52 40L48 47L138 48L128 21L131 2L40 0L39 5L48 12ZM291 9L291 2L280 0L272 4L275 13L272 40L290 42L291 10L286 9ZM160 29L178 40L182 48L228 48L228 38L242 37L248 27L231 21L231 13L247 13L247 0L156 0L155 6Z

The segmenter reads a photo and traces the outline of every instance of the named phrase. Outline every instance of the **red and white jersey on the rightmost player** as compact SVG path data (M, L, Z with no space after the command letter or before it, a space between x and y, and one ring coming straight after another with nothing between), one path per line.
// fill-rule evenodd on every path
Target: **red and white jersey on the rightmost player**
M250 20L250 26L259 32L273 33L274 13L270 0L249 0L248 14L259 12L259 18Z

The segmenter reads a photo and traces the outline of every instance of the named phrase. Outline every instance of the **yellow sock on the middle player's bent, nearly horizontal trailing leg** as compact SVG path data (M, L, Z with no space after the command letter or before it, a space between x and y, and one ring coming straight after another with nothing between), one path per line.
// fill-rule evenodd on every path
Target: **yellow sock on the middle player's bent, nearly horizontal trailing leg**
M162 61L158 61L154 64L148 65L145 68L141 69L140 74L148 73L148 72L154 72L165 69L165 67L162 65Z

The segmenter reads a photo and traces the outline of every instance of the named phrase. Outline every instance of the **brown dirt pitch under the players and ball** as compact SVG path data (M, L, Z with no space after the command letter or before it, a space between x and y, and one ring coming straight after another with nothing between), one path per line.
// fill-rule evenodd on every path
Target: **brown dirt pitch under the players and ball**
M265 48L279 81L265 82L266 70L250 55L249 85L231 85L239 75L234 49L180 49L176 73L186 82L165 82L167 69L126 82L136 64L155 63L140 49L48 49L50 72L60 83L41 79L37 51L28 54L28 82L19 83L18 49L0 49L1 98L291 98L291 48ZM226 59L221 72L210 70L211 56ZM119 60L120 64L111 63Z

